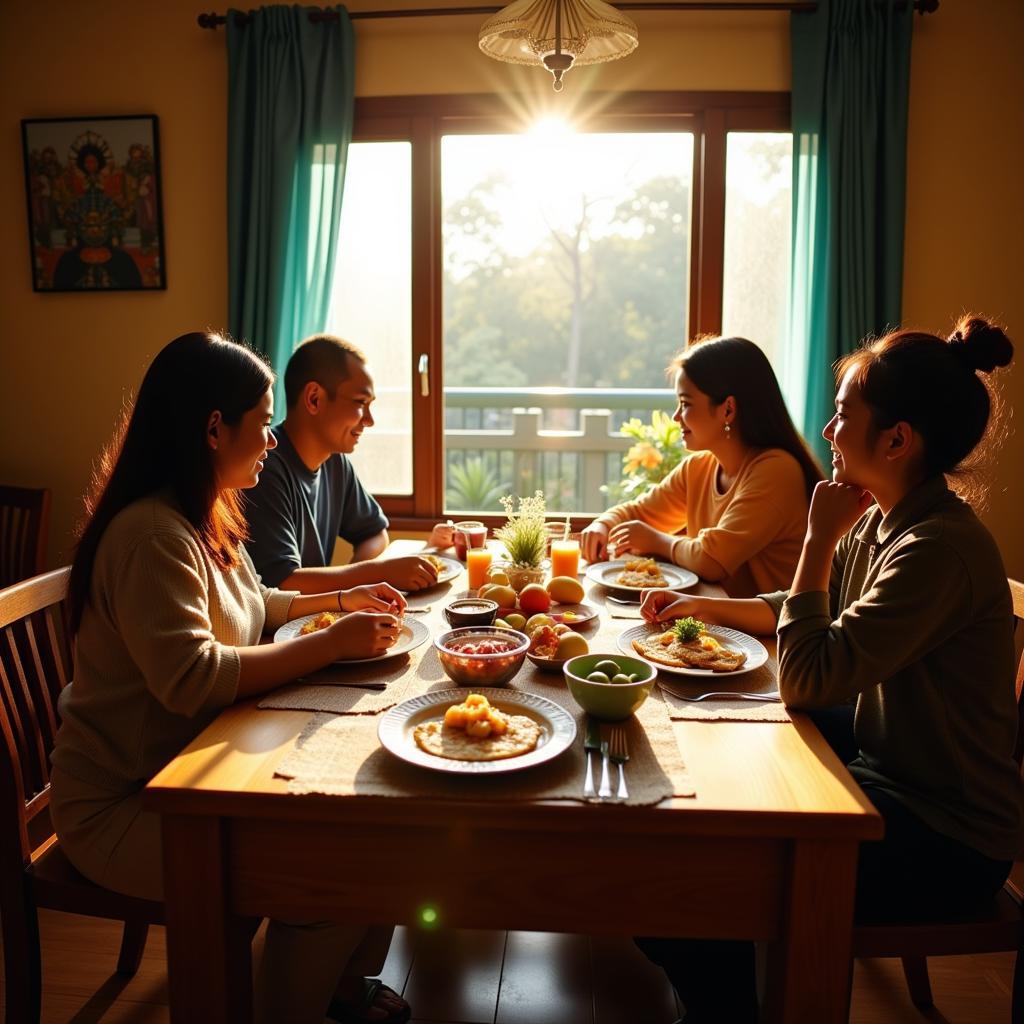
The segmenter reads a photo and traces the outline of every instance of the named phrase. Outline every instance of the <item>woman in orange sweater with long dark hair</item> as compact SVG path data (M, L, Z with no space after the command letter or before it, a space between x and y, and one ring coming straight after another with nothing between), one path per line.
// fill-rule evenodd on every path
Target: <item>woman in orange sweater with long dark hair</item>
M690 455L656 487L583 532L589 561L650 555L720 582L731 597L785 588L821 470L764 352L745 338L690 345L669 366Z

